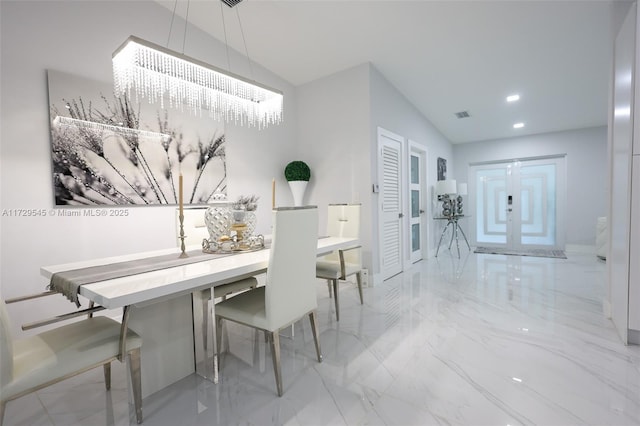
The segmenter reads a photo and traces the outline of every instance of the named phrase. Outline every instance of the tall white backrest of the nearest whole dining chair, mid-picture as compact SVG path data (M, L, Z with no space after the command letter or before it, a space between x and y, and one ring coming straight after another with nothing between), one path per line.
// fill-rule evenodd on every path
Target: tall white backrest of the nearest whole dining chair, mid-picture
M273 211L273 240L265 287L265 314L270 330L282 328L317 308L317 247L315 206Z

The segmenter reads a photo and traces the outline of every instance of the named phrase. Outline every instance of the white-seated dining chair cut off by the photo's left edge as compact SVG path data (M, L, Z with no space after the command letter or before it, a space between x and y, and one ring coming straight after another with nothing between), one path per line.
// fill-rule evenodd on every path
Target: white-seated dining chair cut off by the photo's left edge
M111 361L122 361L125 356L129 360L136 420L142 423L142 339L126 328L126 310L123 324L104 316L92 317L13 340L7 310L0 301L0 425L8 401L96 367L103 366L109 390Z

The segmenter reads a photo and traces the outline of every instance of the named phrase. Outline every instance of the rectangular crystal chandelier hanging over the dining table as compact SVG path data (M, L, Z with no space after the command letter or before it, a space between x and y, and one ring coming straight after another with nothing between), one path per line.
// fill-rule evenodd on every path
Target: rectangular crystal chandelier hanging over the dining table
M169 106L193 113L209 111L216 120L265 128L282 122L282 92L174 52L129 37L112 55L114 91L150 103L165 96Z

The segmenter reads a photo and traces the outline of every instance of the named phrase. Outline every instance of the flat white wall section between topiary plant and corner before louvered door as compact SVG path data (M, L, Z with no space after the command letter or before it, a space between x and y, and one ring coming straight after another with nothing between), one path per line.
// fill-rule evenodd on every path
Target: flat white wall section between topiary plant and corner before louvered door
M298 145L290 159L311 168L305 203L319 207L321 235L328 204L362 203L363 264L371 268L368 81L368 66L360 65L299 86Z

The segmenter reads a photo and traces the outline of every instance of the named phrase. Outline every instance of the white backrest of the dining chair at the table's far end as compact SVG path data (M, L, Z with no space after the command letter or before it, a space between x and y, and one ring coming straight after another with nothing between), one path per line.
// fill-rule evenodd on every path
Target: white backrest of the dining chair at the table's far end
M360 204L329 204L327 208L327 235L330 237L360 238ZM360 250L344 253L345 262L362 265ZM339 262L337 252L324 257Z

